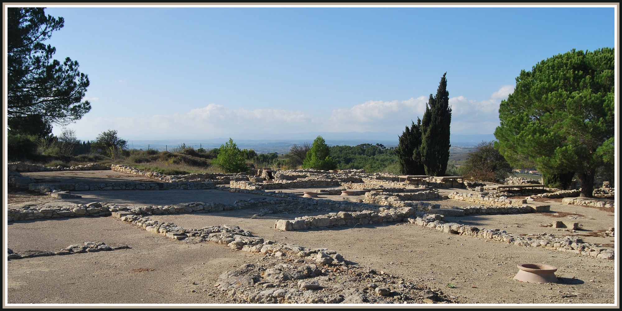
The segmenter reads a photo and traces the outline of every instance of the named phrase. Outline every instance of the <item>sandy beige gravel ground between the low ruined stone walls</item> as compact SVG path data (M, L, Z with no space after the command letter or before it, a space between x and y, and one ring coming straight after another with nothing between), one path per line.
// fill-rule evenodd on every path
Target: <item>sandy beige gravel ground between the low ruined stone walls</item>
M126 200L131 202L128 205L234 202L238 198L253 196L220 190L79 194L83 195L86 203ZM10 193L8 200L12 204L62 203L29 193ZM70 202L78 203L75 200ZM435 203L457 206L464 202L440 200ZM550 213L466 216L448 220L479 228L499 228L515 234L546 232L575 235L590 243L611 244L613 247L615 238L595 234L615 226L613 210L561 205L555 201L550 204ZM183 228L236 225L266 240L332 249L361 267L399 276L430 289L440 289L452 302L597 304L596 307L618 303L615 300L618 290L615 281L617 259L609 261L549 249L514 246L446 234L407 223L282 232L273 229L276 220L308 214L258 216L259 213L260 210L251 208L151 218L170 221ZM582 230L572 232L542 226L554 220L578 222L583 225ZM4 232L6 246L17 253L33 249L57 251L85 241L127 244L131 247L7 261L5 288L9 304L236 304L243 301L234 300L235 297L215 289L218 277L225 271L233 271L264 258L262 254L236 251L210 242L192 243L165 238L112 217L22 221L9 224ZM552 284L516 281L513 279L518 272L516 264L521 262L556 266L558 270L555 274L560 281ZM366 285L351 284L352 287Z

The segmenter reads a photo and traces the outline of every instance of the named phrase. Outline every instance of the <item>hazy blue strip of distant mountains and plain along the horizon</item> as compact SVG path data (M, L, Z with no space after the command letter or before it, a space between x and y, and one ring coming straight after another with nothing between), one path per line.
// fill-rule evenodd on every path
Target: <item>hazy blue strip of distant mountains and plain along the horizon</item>
M329 146L356 146L358 144L383 144L386 147L396 147L397 137L399 134L389 132L309 132L309 133L287 133L279 134L279 139L235 139L240 149L253 149L256 152L269 153L279 152L285 153L289 151L294 144L304 144L305 142L312 144L317 136L322 136ZM192 146L195 149L200 147L205 149L213 149L225 144L229 138L211 138L211 139L167 139L167 140L134 140L128 141L128 147L131 149L157 149L160 151L170 150L179 147L181 144ZM474 134L474 135L458 135L450 136L452 147L470 147L479 144L482 141L494 141L493 134Z

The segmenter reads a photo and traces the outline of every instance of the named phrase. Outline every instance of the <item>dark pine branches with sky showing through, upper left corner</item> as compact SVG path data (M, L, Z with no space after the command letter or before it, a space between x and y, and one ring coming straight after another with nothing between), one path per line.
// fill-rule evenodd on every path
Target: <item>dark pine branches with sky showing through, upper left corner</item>
M7 8L7 118L33 124L68 124L91 109L82 101L88 76L78 62L52 60L56 49L43 42L63 27L62 17L45 16L42 7ZM16 127L14 129L13 127ZM45 126L39 126L47 131Z

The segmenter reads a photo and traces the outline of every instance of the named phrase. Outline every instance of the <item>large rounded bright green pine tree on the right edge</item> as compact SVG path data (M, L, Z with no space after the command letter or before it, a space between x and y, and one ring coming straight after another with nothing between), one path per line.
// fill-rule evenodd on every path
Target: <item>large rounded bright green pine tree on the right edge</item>
M614 56L572 50L521 71L494 132L510 164L527 158L543 174L577 172L581 195L592 197L596 169L613 169Z

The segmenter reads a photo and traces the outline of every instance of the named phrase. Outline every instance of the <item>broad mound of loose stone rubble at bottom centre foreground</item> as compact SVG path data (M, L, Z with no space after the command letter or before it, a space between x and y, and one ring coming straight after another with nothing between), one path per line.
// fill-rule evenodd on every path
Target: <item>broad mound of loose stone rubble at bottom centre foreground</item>
M309 254L309 256L306 256ZM315 255L315 256L314 256ZM253 304L439 304L457 303L383 271L341 259L335 251L277 251L219 277L216 289ZM320 264L318 258L332 259ZM324 260L328 261L328 260Z

